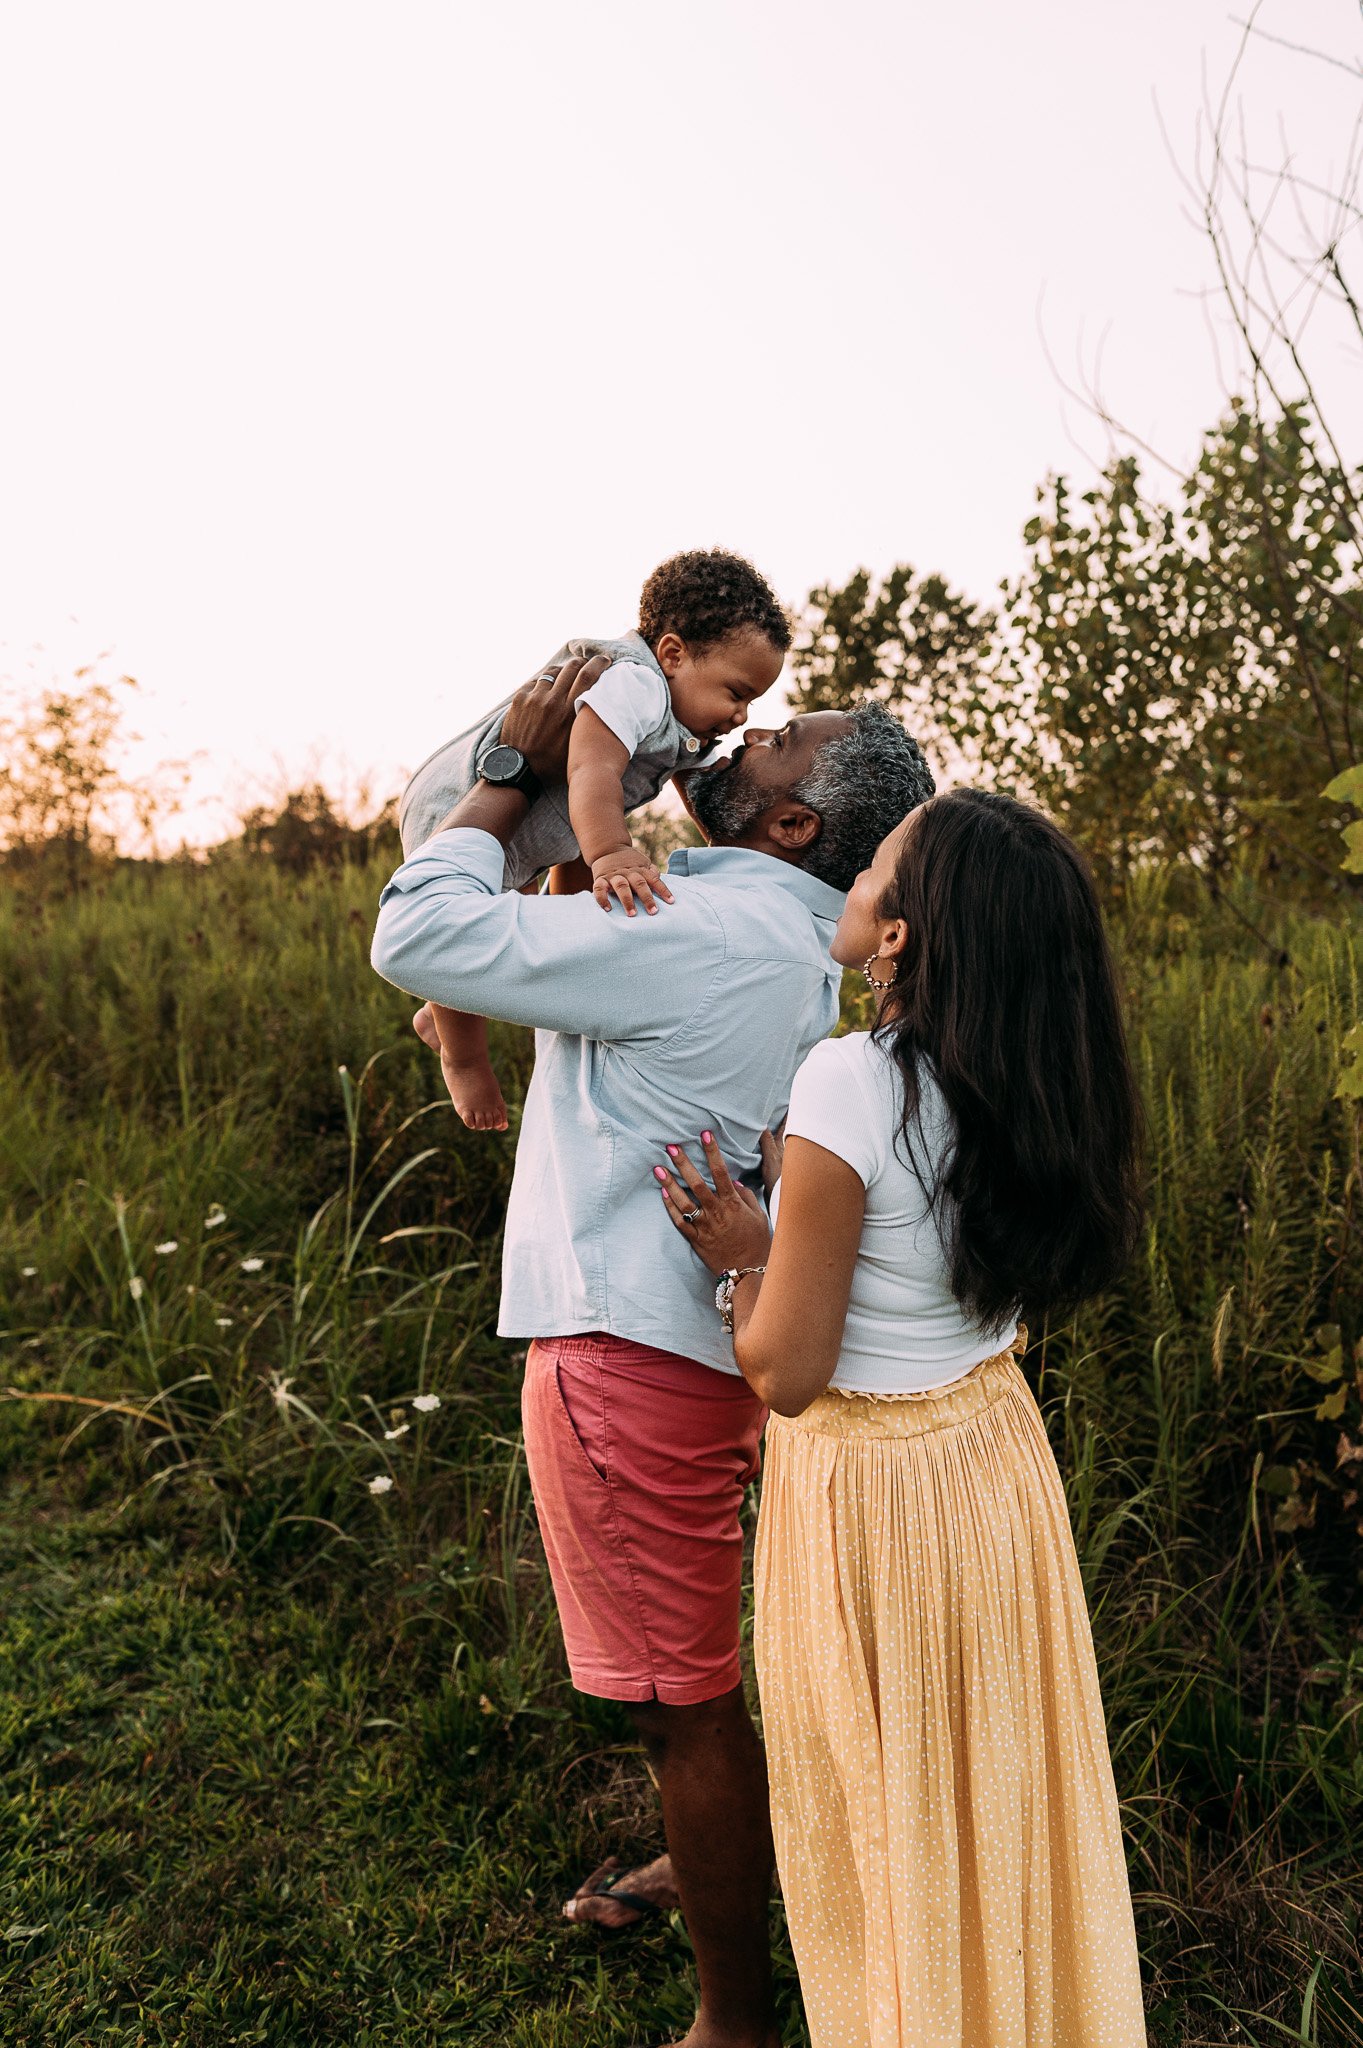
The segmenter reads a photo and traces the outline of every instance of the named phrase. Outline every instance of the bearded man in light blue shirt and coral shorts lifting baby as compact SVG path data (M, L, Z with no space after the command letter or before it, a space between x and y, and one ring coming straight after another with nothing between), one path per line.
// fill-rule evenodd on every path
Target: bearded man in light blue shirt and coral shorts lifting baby
M774 2048L767 1786L739 1671L739 1507L763 1409L653 1167L712 1128L731 1171L757 1169L837 1022L843 893L933 782L884 711L810 713L749 729L679 784L710 844L673 854L657 915L501 895L526 788L563 772L573 696L602 666L569 662L514 698L501 741L524 760L397 870L372 961L430 1001L538 1028L497 1329L534 1339L526 1460L569 1667L628 1704L661 1788L700 1974L677 2048Z

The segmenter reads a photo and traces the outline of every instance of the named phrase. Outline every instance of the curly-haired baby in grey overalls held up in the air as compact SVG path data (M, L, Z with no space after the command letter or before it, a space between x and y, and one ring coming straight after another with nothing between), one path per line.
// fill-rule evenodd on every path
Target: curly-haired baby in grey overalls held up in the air
M512 748L499 748L510 696L424 762L403 795L403 854L422 846L487 770L530 795L505 852L503 889L532 889L540 874L581 858L591 891L612 893L634 915L655 891L671 893L630 842L626 813L651 803L675 772L702 768L724 733L747 723L753 698L782 672L790 627L770 586L739 555L673 555L649 578L639 631L620 641L569 641L573 653L608 653L612 666L577 698L567 780L538 784ZM489 760L489 756L495 756ZM585 883L583 883L585 885ZM487 1057L487 1022L430 1006L454 1108L471 1130L505 1130L505 1102Z

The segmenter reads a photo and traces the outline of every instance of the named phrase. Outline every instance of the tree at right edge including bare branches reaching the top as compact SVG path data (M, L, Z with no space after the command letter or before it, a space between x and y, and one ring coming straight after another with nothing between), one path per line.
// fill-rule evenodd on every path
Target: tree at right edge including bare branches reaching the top
M1013 623L1023 684L1060 750L1068 793L1060 799L1054 774L1040 786L1064 801L1099 858L1122 870L1142 844L1164 844L1216 891L1232 858L1248 852L1263 874L1330 893L1353 883L1338 883L1314 793L1359 762L1363 739L1363 471L1345 453L1310 352L1328 317L1322 352L1363 367L1351 274L1363 225L1359 131L1334 188L1314 182L1287 143L1275 164L1255 162L1232 96L1250 37L1265 35L1259 12L1261 0L1220 98L1205 102L1195 164L1183 174L1212 256L1212 307L1238 358L1238 395L1171 508L1142 492L1130 451L1171 477L1177 467L1124 428L1093 385L1072 393L1119 453L1079 516L1056 489L1029 528ZM1293 59L1334 63L1283 47ZM1046 750L1042 760L1052 766ZM1119 815L1103 823L1103 770L1117 766L1128 770ZM1130 786L1142 768L1144 805ZM1156 827L1148 842L1142 823Z

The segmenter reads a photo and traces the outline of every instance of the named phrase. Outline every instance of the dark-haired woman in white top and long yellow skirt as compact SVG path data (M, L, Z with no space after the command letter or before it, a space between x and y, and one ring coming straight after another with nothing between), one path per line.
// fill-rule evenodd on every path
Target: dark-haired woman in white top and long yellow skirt
M657 1169L770 1405L757 1679L815 2048L1138 2048L1117 1798L1019 1315L1140 1229L1115 975L1072 844L954 791L833 944L874 1030L796 1075L774 1235L714 1145ZM673 1176L682 1176L682 1182Z

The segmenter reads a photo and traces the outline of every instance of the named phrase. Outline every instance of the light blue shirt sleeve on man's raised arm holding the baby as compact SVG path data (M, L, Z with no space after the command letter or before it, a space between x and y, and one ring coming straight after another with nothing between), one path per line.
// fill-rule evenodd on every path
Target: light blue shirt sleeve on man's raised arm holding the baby
M657 1044L706 999L724 936L694 891L677 891L657 918L606 913L591 895L503 895L497 840L456 827L385 887L370 961L385 981L450 1010Z

